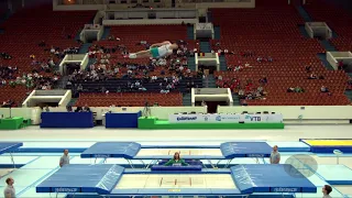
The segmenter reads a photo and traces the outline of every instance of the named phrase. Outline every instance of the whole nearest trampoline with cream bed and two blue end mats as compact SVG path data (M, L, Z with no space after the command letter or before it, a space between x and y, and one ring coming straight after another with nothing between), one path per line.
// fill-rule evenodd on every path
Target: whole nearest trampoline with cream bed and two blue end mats
M289 174L285 170L292 169ZM293 174L298 175L293 177ZM292 165L235 165L227 169L168 174L125 169L119 165L67 165L36 187L36 193L109 196L248 196L251 194L317 193Z

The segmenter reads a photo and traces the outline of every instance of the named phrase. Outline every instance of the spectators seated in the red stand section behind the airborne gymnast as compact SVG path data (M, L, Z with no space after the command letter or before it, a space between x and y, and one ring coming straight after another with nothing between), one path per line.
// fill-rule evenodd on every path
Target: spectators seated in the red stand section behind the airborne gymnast
M120 38L113 35L109 40L114 41ZM145 48L150 47L146 41L141 41L136 45L143 45ZM195 74L187 67L187 56L191 56L194 51L187 50L187 44L179 48L175 54L166 58L150 58L143 64L130 63L128 59L113 62L116 55L125 55L129 53L128 47L120 44L113 47L105 47L94 45L89 50L89 57L96 58L96 62L88 66L86 70L75 70L68 80L68 85L74 85L77 91L82 91L85 81L101 81L107 79L122 78L128 79L125 86L118 87L117 90L107 90L101 87L101 92L108 94L109 91L146 91L146 84L158 82L160 91L167 94L177 89L180 80L184 78L189 79ZM119 56L121 57L121 56ZM116 64L112 64L116 63ZM199 74L198 74L199 75ZM162 80L161 80L162 79ZM190 80L187 84L187 90L190 90L194 82Z

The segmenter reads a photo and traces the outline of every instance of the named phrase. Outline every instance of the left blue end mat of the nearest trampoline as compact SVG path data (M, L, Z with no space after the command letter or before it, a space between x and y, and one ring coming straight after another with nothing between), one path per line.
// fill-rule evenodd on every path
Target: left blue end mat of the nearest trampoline
M59 168L36 187L36 193L97 193L110 194L124 168L111 164L74 165Z

